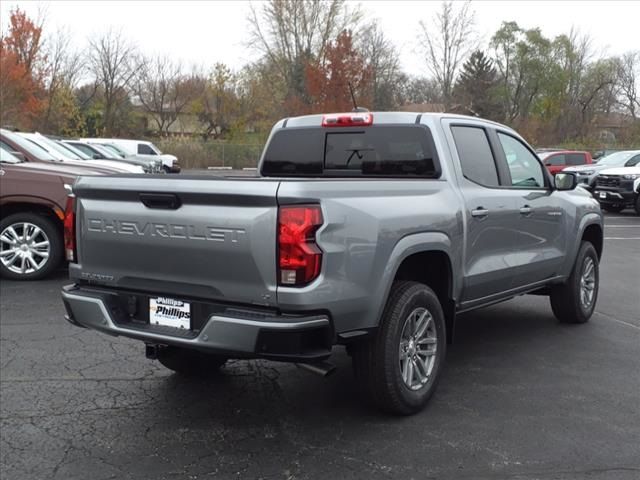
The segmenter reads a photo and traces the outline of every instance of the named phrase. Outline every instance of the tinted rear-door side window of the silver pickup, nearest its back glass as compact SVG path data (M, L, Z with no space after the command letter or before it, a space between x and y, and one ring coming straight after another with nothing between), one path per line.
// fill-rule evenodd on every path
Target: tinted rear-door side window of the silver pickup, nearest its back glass
M498 170L483 128L452 126L458 157L465 178L485 187L497 187Z

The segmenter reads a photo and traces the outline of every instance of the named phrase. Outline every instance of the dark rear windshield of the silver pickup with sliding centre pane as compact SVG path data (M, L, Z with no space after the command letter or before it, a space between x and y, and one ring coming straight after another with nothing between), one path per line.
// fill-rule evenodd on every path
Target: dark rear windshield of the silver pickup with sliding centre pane
M436 178L440 167L424 125L294 127L274 134L262 174Z

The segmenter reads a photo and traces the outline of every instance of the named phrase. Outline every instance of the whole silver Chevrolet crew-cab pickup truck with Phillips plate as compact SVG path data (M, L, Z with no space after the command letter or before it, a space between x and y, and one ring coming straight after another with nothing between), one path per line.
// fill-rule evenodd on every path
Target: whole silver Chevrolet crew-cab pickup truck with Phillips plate
M411 414L455 317L532 293L562 322L598 296L603 219L496 123L356 112L279 121L257 178L82 177L68 202L67 320L184 374L229 358L332 368Z

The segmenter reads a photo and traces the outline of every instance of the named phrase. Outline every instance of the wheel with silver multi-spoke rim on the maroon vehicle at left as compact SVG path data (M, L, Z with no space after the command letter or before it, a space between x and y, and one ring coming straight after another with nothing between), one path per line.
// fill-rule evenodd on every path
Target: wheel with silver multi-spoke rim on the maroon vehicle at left
M15 253L12 255L11 251ZM3 277L39 280L58 268L63 253L62 229L53 219L21 212L0 221L0 274Z

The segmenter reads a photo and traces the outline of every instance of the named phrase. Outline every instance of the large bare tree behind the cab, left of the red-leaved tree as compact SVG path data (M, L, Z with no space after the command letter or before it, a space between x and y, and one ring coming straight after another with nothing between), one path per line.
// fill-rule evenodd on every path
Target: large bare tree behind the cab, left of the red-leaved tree
M251 7L249 44L277 66L290 95L304 97L307 64L322 64L327 44L359 15L344 0L269 0Z

